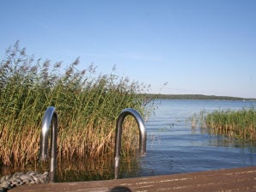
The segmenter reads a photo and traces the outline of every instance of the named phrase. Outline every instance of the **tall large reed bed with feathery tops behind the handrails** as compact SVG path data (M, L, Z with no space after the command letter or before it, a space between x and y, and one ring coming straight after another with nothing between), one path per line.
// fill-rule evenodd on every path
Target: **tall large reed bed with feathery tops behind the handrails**
M119 112L132 107L148 114L143 93L149 86L114 75L114 69L99 75L94 65L78 65L79 58L63 69L62 63L27 56L19 42L7 49L0 63L0 165L38 160L40 126L50 105L58 112L58 161L112 154ZM137 124L125 121L125 127L122 153L128 155L136 150Z

